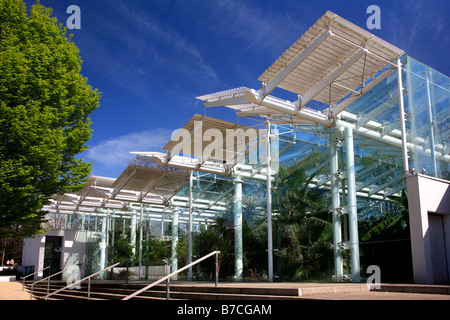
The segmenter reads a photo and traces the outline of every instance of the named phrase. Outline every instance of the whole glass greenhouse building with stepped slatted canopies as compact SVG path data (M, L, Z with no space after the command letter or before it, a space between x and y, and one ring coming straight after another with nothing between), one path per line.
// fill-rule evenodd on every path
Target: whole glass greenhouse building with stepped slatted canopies
M55 196L57 269L132 258L148 279L219 250L234 281L360 282L376 265L382 281L449 282L450 78L327 12L258 80L198 97L240 124L196 114L117 179ZM45 237L24 263L53 263Z

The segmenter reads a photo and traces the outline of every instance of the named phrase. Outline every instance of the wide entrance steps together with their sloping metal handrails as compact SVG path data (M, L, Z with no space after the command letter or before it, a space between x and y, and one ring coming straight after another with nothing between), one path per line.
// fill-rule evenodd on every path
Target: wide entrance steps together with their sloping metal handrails
M323 283L312 286L298 283L221 283L219 286L219 254L220 251L213 251L151 283L92 280L93 277L122 263L117 262L75 282L74 284L78 284L80 289L69 289L64 281L51 281L52 275L34 282L32 293L35 299L44 299L49 295L49 300L122 300L124 298L124 300L166 300L169 298L171 300L294 300L313 299L314 295L369 291L365 284L356 283ZM216 258L214 284L170 281L170 286L166 286L166 282L178 273L213 256ZM86 280L89 280L89 287ZM48 281L51 281L49 285ZM31 283L26 285L29 292L31 292L31 285Z

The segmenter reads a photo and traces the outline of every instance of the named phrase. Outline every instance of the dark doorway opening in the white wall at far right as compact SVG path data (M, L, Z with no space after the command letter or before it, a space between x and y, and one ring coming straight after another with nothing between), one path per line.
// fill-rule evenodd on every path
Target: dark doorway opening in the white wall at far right
M428 214L428 234L430 236L431 263L433 266L433 282L449 282L448 256L444 218L439 214Z

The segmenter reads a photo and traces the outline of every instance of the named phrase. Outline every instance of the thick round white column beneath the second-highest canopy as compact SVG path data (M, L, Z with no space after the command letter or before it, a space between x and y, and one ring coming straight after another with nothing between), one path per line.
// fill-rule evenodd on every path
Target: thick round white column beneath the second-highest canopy
M244 258L242 244L242 180L234 180L234 276L236 281L243 280Z

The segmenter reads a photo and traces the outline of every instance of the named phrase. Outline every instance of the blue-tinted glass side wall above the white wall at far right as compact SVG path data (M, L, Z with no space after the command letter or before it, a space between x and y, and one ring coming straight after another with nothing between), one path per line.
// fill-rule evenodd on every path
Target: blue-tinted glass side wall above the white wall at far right
M418 173L449 180L450 78L407 57L408 141Z

